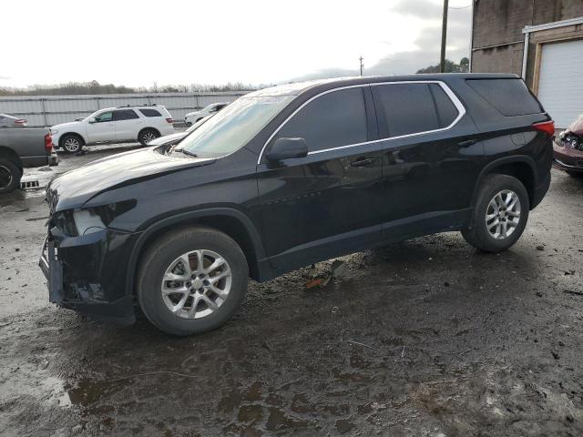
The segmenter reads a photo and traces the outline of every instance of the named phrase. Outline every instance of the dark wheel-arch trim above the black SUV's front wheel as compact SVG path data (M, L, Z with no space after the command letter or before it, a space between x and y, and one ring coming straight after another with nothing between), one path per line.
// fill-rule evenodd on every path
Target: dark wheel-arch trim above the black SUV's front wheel
M228 216L233 219L237 219L243 225L249 236L251 238L251 243L253 244L253 249L255 250L255 254L257 256L258 264L264 264L261 262L262 259L265 259L265 250L263 249L263 244L261 242L260 234L255 228L255 225L251 222L251 219L247 217L244 213L240 210L235 208L204 208L204 209L196 209L193 211L182 212L165 219L160 219L156 223L150 225L147 229L143 230L134 248L131 251L128 261L128 273L126 276L126 293L131 294L134 288L134 277L136 273L136 268L138 267L138 259L139 255L141 254L141 250L144 247L146 241L148 241L149 237L151 237L156 231L159 229L167 228L171 225L188 222L192 219L202 219L204 217L210 216Z

